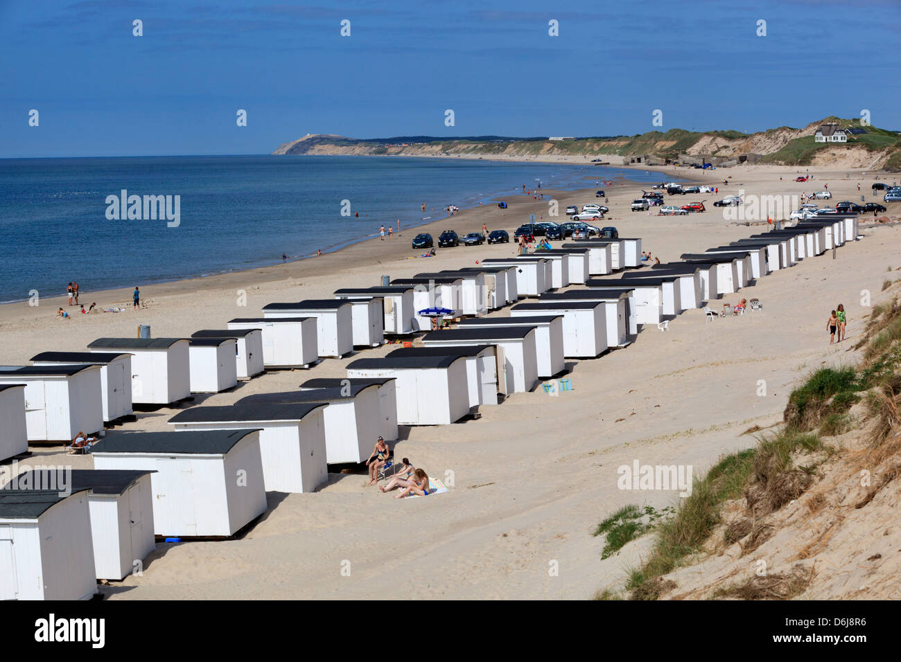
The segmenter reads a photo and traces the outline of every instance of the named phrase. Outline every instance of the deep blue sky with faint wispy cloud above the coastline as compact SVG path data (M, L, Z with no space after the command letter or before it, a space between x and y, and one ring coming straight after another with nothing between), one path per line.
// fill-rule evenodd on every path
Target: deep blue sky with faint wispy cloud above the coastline
M901 130L901 0L321 1L0 0L0 158L761 131L863 110Z

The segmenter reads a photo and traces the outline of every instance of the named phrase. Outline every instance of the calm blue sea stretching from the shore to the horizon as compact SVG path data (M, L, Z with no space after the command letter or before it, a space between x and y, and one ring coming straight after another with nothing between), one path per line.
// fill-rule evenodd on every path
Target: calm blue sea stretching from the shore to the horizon
M112 287L277 264L283 253L305 258L374 236L382 223L396 228L396 219L404 229L440 219L448 204L496 204L523 184L577 188L614 177L623 177L617 168L469 159L0 159L0 303L33 290L62 295L72 280L84 302ZM625 177L660 174L626 170ZM123 189L180 196L177 227L108 218L107 196ZM341 215L342 201L350 216ZM526 220L511 215L510 225Z

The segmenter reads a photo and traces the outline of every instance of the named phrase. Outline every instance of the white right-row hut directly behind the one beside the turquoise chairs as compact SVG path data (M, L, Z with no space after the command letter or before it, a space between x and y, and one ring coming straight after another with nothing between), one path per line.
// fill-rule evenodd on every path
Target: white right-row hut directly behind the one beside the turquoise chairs
M606 303L603 301L516 304L510 309L514 317L562 314L563 356L595 358L607 349Z

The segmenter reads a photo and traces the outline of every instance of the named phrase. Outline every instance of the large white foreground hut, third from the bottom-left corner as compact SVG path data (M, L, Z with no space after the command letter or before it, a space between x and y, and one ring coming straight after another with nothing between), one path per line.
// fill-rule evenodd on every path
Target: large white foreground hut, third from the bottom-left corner
M109 432L96 469L153 471L153 532L231 536L266 511L258 430Z

